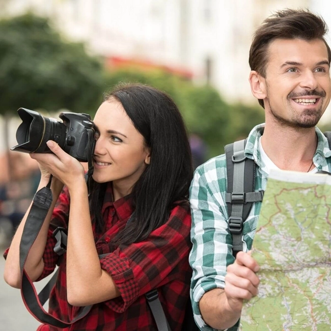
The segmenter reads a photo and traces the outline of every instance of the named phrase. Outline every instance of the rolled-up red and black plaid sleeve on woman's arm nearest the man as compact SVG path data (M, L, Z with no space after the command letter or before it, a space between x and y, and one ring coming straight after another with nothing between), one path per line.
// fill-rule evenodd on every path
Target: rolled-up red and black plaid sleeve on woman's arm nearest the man
M190 225L188 203L176 206L167 223L152 231L146 240L120 246L100 259L102 269L112 275L121 293L104 303L121 313L139 296L182 278L182 268L178 266L187 261Z

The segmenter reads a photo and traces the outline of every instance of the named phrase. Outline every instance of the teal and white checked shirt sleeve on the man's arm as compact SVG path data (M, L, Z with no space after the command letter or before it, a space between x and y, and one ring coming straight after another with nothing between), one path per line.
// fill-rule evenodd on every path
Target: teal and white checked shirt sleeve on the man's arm
M227 265L234 262L227 222L226 190L225 155L210 159L196 170L190 187L193 246L189 262L193 269L192 308L198 326L204 331L214 329L202 319L199 301L207 291L224 288ZM237 330L237 326L229 330Z

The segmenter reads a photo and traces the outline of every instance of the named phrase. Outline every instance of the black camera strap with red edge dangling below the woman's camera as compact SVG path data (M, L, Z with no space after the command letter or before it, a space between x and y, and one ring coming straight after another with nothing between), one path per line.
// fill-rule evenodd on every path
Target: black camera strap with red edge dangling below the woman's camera
M55 283L57 273L53 276L52 280L47 285L48 289L44 288L38 295L33 282L24 270L27 255L29 254L31 247L40 232L40 229L44 223L44 220L53 200L53 195L50 189L51 178L52 176L50 176L49 182L45 187L41 188L39 191L36 192L31 206L31 210L29 212L29 215L27 215L27 219L24 225L22 238L19 245L21 296L26 309L29 310L29 312L37 320L42 323L46 323L60 328L65 328L70 326L77 320L81 319L82 317L86 316L91 310L92 306L82 307L79 310L78 315L71 322L64 322L52 316L51 314L46 312L42 306L48 299L48 297L45 299L45 296L47 295L49 287L51 288L52 285ZM53 284L51 282L53 282Z

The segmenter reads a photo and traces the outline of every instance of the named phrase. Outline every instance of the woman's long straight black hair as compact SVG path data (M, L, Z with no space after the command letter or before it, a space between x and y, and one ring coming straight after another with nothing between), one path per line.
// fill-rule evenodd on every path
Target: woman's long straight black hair
M132 188L133 218L114 238L114 244L130 244L148 237L167 222L175 202L187 203L193 177L191 152L182 116L165 93L142 84L121 84L104 100L121 102L134 127L150 149L151 161ZM91 209L98 231L105 186L92 181Z

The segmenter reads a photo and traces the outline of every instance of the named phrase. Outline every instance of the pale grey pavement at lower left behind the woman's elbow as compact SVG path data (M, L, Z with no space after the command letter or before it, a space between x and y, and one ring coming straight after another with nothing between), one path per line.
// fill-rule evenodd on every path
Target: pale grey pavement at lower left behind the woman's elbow
M25 308L20 290L10 287L4 281L3 253L7 243L0 240L0 331L36 331L40 322ZM45 286L49 278L35 283L37 292ZM47 302L44 309L47 310Z

